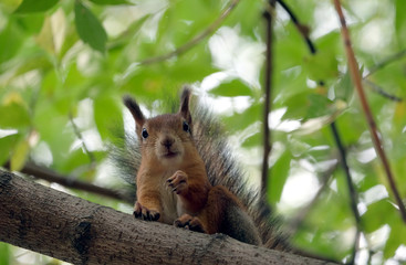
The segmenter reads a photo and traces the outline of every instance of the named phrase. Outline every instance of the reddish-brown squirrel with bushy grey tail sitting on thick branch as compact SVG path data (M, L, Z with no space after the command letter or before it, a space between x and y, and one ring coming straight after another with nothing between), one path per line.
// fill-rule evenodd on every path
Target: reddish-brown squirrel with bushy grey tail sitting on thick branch
M137 137L128 137L115 160L136 172L134 216L289 251L278 220L247 189L221 126L199 105L191 114L190 97L185 86L177 113L152 118L131 96L123 97Z

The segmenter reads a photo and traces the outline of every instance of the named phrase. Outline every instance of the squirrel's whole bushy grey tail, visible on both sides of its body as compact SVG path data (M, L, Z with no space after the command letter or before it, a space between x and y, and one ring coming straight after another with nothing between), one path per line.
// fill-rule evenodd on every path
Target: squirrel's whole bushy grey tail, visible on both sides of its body
M259 192L249 188L243 171L238 166L227 144L221 124L202 104L191 104L192 136L196 147L206 165L209 181L212 186L228 188L246 206L259 230L263 245L269 248L289 251L287 239L281 233L280 221L271 210L261 203ZM112 160L117 165L119 174L129 183L139 168L140 153L134 134L126 134L118 139L112 149Z

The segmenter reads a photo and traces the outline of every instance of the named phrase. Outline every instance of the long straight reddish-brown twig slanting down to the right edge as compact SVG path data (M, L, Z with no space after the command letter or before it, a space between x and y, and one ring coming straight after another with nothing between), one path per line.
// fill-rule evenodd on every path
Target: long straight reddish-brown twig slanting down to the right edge
M368 102L366 100L366 96L365 96L363 85L362 85L362 77L361 77L361 74L360 74L360 71L358 71L357 62L355 60L354 51L352 49L350 32L348 32L348 29L346 26L346 22L345 22L345 18L344 18L344 14L343 14L343 11L342 11L342 8L341 8L340 0L334 0L334 6L335 6L335 10L339 14L340 22L341 22L341 25L342 25L341 26L341 32L342 32L343 40L344 40L345 52L346 52L346 56L347 56L347 60L348 60L348 67L350 67L350 73L351 73L351 76L352 76L352 81L353 81L354 86L356 88L356 92L358 94L360 102L361 102L364 115L365 115L366 120L368 123L369 131L371 131L371 135L372 135L372 140L374 142L375 150L378 153L378 156L381 158L381 161L384 166L384 170L385 170L387 180L389 182L392 192L393 192L393 194L395 197L395 200L397 202L402 219L406 223L406 209L405 209L405 205L402 202L402 198L399 195L399 192L397 191L395 179L394 179L394 176L393 176L392 170L391 170L389 161L386 157L386 153L385 153L384 148L383 148L383 144L379 139L378 129L377 129L376 123L374 120L374 117L372 115L371 107L368 105Z

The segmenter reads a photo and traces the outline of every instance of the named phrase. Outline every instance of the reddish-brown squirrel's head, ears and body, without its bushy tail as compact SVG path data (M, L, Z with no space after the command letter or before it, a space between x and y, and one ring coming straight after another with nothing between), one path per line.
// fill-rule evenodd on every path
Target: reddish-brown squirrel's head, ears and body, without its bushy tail
M153 118L145 118L134 99L124 98L136 123L142 153L134 215L261 244L239 200L227 188L209 182L192 136L190 94L188 88L183 91L178 113Z

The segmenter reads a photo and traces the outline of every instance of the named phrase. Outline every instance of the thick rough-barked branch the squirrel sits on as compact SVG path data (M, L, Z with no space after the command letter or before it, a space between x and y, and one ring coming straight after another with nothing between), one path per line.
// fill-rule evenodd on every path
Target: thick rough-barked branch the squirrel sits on
M1 170L0 241L73 264L325 264L134 220Z

